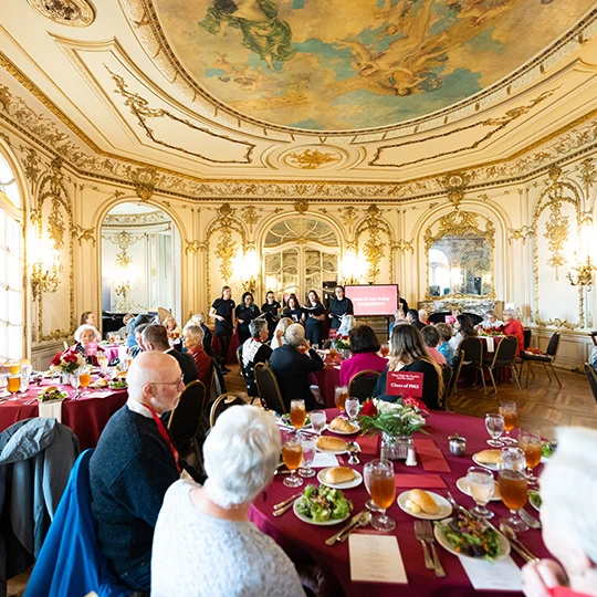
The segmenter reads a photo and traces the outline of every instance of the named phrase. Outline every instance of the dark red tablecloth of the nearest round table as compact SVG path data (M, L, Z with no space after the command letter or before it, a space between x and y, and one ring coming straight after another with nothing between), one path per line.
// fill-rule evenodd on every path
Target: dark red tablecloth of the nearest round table
M327 420L338 415L338 410L327 410ZM452 493L457 502L464 507L471 507L474 505L472 498L464 495L457 488L455 482L459 478L465 476L467 469L474 463L471 460L471 455L480 450L488 448L485 441L489 436L485 431L484 420L464 415L457 415L452 412L437 412L433 411L428 418L428 425L426 427L429 431L429 436L422 433L416 433L415 438L431 439L437 448L444 457L441 461L428 460L426 465L429 470L425 470L421 465L421 454L417 454L419 465L416 468L406 467L404 461L395 463L396 474L412 474L419 476L419 481L416 481L409 486L397 488L396 496L401 492L408 491L418 486L418 484L425 483L425 479L429 475L439 475L446 483L447 490ZM454 457L450 453L448 444L448 436L454 432L467 438L467 455L463 458ZM327 434L328 432L326 432ZM338 436L339 437L339 436ZM350 437L352 439L353 437ZM343 436L346 439L346 436ZM375 443L370 440L363 441L363 438L358 438L362 442L362 447L365 451L371 453L360 454L360 464L354 468L363 473L363 464L373 458L379 458L378 448L377 454L374 455L376 450ZM373 449L371 449L373 448ZM421 449L421 451L425 451ZM344 457L341 457L344 458ZM341 462L342 463L342 462ZM439 471L437 469L450 469ZM541 468L541 465L540 465ZM436 469L436 470L433 470ZM283 478L282 478L283 479ZM263 496L258 496L250 511L250 519L253 523L265 534L270 535L281 547L289 554L289 556L295 561L306 561L313 558L323 569L323 572L331 577L332 582L337 582L337 594L341 595L344 590L348 597L364 596L367 597L385 597L391 595L409 595L411 597L429 597L429 596L469 596L476 595L478 591L472 587L464 568L462 567L459 558L447 551L444 551L439 544L436 543L439 558L447 576L444 578L436 577L433 570L429 570L425 567L423 553L420 543L415 537L413 521L415 519L400 510L396 500L394 504L388 509L387 514L396 521L396 530L392 534L398 538L400 554L406 567L406 574L408 577L408 585L394 585L394 584L371 584L371 583L353 583L350 580L349 569L349 555L348 555L348 542L336 543L333 546L327 546L325 540L333 535L342 525L334 526L315 526L300 521L292 510L286 514L274 517L272 515L272 506L297 492L294 488L286 488L282 483L281 476L274 478L266 493ZM306 479L305 485L312 483L317 485L316 478ZM440 494L446 495L446 489L430 489ZM368 499L367 491L362 483L357 488L350 490L344 490L347 499L354 503L354 513L360 512L364 509L364 504ZM495 512L493 522L499 524L500 517L507 514L507 510L502 502L490 502L488 507ZM527 511L536 515L537 513L526 505ZM371 533L378 534L370 526L357 531L358 533ZM541 531L530 530L525 533L519 534L519 538L535 553L538 557L547 557L546 551L542 537ZM521 567L523 561L514 552L511 553L515 564ZM342 588L341 588L342 587ZM479 591L482 595L496 596L496 595L522 595L519 593L505 593L505 591L492 591L483 590Z

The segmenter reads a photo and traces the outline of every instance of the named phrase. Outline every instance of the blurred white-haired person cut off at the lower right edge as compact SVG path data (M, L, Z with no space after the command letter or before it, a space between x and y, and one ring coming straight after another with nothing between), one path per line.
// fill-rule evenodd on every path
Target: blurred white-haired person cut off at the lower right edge
M541 475L543 540L559 561L523 568L527 597L597 596L597 431L557 430L557 449Z

